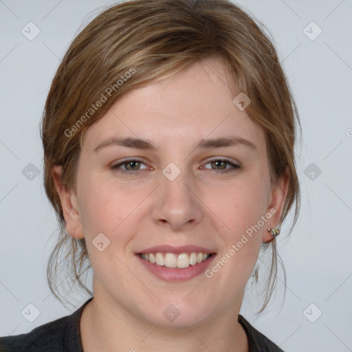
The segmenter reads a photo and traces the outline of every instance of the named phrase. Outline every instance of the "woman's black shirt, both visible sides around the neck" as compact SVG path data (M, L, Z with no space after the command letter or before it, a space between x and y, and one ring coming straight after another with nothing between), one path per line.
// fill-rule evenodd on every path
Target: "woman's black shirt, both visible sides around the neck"
M0 338L0 352L83 352L80 340L80 316L89 298L70 316L48 322L36 327L30 333ZM272 341L239 314L241 323L248 338L249 352L283 352Z

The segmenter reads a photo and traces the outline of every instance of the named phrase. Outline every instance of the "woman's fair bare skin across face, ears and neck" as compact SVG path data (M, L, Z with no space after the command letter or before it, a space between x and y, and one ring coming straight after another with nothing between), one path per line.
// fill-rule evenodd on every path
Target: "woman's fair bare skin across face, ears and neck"
M267 228L279 223L288 179L272 186L263 129L232 103L229 87L219 58L206 58L133 89L87 129L75 190L61 187L61 166L54 167L67 231L85 237L94 270L94 299L80 322L85 351L248 351L237 317L261 243L272 241ZM225 136L255 148L197 148ZM94 151L111 137L150 140L157 149ZM126 157L144 164L111 167ZM162 173L170 162L181 170L173 181ZM216 263L271 208L276 214L212 278L166 282L135 256L154 245L200 245L217 253ZM101 232L110 240L102 252L91 243ZM170 304L180 312L173 322L163 314Z

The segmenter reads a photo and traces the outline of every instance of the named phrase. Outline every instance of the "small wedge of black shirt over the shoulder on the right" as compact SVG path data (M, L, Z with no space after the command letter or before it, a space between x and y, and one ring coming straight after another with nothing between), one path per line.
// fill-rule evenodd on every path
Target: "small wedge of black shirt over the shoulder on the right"
M247 334L249 352L284 352L274 342L264 336L263 333L252 327L250 322L245 320L241 314L239 314L238 320Z

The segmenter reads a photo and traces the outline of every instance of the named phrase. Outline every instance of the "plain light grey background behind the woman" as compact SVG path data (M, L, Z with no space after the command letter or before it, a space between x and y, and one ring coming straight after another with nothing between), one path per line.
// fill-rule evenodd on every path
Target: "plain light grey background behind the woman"
M31 331L87 299L67 310L45 281L57 225L42 186L39 121L69 43L112 3L0 0L0 336ZM274 36L303 126L300 219L290 237L285 225L278 237L285 301L281 272L267 313L253 315L254 298L241 313L287 352L352 351L352 1L238 3ZM21 32L30 35L30 21L40 30L32 41ZM33 322L21 314L29 304L40 311Z

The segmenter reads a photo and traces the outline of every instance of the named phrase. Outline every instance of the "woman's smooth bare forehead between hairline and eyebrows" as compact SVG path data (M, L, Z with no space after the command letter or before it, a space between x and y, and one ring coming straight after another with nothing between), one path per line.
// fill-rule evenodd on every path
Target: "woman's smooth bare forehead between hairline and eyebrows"
M232 82L219 58L192 63L157 83L132 89L86 132L89 149L103 139L130 136L155 144L186 144L224 133L261 147L263 129L232 102Z

